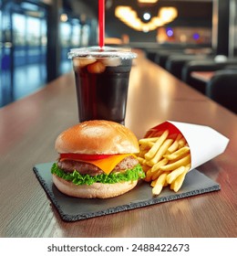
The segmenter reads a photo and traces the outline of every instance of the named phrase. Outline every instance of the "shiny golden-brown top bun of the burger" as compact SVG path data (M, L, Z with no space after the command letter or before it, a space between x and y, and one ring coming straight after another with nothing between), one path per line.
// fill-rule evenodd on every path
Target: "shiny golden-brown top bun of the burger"
M137 137L127 127L104 120L78 123L58 135L58 153L114 155L139 153Z

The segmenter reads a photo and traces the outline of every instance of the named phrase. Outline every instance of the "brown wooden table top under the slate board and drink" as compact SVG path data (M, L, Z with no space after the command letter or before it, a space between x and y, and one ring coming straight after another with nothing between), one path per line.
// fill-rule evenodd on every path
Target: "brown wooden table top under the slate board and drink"
M0 110L1 237L236 237L237 118L142 56L132 68L126 126L138 138L166 120L230 138L198 169L221 190L77 222L60 219L32 168L57 159L58 133L77 123L73 73ZM102 231L103 230L103 231Z

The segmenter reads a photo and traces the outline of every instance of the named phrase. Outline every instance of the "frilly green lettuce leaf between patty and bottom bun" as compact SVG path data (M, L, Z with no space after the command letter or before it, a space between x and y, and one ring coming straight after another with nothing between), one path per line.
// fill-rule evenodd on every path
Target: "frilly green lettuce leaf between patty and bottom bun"
M125 182L129 180L138 180L144 178L145 173L140 165L136 165L132 169L127 169L123 173L110 173L102 174L98 176L80 175L76 170L73 173L66 173L54 163L51 168L51 173L55 174L63 179L73 182L76 185L92 185L95 182L114 184L118 182Z

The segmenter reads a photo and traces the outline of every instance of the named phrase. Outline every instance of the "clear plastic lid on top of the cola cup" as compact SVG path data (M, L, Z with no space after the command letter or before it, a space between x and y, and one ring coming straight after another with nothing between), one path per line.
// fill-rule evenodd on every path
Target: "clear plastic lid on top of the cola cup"
M134 59L137 54L130 51L129 48L110 48L110 47L90 47L90 48L72 48L68 52L68 59L80 58L121 58Z

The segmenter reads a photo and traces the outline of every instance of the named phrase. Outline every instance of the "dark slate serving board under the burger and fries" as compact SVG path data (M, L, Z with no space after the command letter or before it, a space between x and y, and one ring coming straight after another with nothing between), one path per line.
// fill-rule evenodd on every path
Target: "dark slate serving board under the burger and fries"
M159 197L152 196L151 187L146 182L140 182L137 187L122 196L108 199L67 197L58 191L52 182L50 172L52 165L53 163L38 164L33 170L47 196L57 208L60 217L65 221L94 218L221 189L218 183L194 169L185 177L179 192L175 193L169 187L165 187Z

